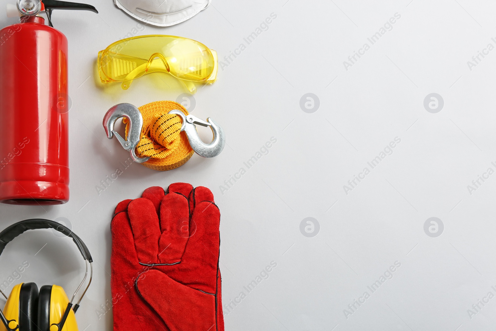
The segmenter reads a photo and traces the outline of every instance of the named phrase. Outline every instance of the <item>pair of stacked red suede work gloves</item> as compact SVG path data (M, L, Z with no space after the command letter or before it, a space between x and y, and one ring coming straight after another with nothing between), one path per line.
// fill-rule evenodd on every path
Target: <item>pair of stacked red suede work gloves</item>
M224 331L219 208L190 184L151 187L112 219L114 331Z

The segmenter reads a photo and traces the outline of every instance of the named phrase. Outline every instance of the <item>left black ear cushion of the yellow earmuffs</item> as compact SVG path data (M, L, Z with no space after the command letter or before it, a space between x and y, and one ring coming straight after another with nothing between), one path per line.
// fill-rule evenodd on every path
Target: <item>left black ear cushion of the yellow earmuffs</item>
M38 286L24 283L19 292L19 331L38 331Z

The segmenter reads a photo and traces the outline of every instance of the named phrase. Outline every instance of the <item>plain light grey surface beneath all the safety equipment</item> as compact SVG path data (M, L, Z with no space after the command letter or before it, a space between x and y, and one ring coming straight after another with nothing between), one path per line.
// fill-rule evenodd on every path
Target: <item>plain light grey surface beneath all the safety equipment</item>
M479 304L476 315L467 310L488 292L496 295L496 175L472 194L467 186L489 167L496 170L496 50L472 70L467 62L489 43L496 46L494 2L214 0L179 25L146 26L139 34L192 38L217 50L224 62L241 43L247 46L219 70L215 84L194 96L192 113L221 124L227 145L214 159L193 156L169 172L133 164L100 195L100 181L129 156L106 138L105 112L121 102L176 100L185 90L165 74L140 78L127 91L119 83L101 84L98 51L138 22L111 0L89 2L99 15L53 14L69 40L70 201L0 206L2 227L31 217L65 217L87 243L95 274L77 313L80 330L112 330L111 312L99 319L97 311L111 298L116 204L174 182L214 192L222 214L224 305L277 263L226 312L226 330L493 330L496 298ZM247 45L244 38L271 13L277 18ZM401 18L371 45L367 38L395 13ZM0 18L2 27L14 22ZM370 50L346 70L343 62L365 43ZM306 93L320 101L311 114L300 108ZM430 93L444 100L435 114L424 108ZM271 137L277 142L268 154L222 194L224 181ZM395 137L401 142L393 153L371 169L367 162ZM365 167L371 173L346 194L343 186ZM300 232L307 217L320 225L312 238ZM435 238L424 232L430 217L444 224ZM8 245L0 280L22 261L30 266L20 281L57 283L67 292L84 270L70 240L49 230ZM372 293L367 286L396 261L401 266L392 279ZM366 291L371 297L345 316Z

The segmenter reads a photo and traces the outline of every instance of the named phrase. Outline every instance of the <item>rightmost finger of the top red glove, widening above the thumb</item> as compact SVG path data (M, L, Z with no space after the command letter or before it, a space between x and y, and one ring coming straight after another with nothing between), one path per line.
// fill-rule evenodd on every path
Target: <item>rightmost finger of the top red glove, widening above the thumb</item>
M183 284L207 293L215 293L219 261L220 211L215 203L197 203L191 218L196 232L191 233L181 263L168 275Z

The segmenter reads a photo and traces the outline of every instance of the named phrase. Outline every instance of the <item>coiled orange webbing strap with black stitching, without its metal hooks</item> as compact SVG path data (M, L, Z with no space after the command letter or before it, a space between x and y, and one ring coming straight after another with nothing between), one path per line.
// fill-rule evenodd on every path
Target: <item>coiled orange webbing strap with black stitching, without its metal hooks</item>
M136 148L137 155L150 157L142 165L153 170L166 171L185 164L194 152L186 132L181 132L181 118L168 113L177 109L188 115L186 108L174 101L155 101L138 109L143 117L143 129ZM124 124L127 136L127 119L124 119Z

